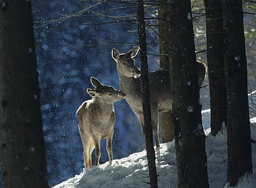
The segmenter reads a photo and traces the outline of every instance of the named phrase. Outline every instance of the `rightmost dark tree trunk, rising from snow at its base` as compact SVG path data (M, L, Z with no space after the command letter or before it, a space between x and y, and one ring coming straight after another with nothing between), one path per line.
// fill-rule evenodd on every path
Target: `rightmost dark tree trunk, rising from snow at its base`
M242 1L222 1L227 85L228 182L252 174Z

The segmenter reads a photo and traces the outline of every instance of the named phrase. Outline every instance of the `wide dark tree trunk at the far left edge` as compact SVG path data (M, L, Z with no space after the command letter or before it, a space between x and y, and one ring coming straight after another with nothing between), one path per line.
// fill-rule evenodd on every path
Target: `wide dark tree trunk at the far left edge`
M30 1L0 9L0 159L5 188L48 187Z

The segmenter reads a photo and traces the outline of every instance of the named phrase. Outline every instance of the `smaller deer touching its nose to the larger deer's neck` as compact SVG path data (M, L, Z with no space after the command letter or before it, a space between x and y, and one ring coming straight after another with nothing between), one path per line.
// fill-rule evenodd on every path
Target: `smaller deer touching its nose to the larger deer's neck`
M112 137L114 133L115 114L113 103L125 97L124 93L112 86L103 85L96 78L90 81L95 89L87 89L92 96L77 110L77 120L83 143L83 160L85 167L92 169L92 151L95 149L95 165L100 161L100 140L107 138L109 161L112 156Z

